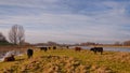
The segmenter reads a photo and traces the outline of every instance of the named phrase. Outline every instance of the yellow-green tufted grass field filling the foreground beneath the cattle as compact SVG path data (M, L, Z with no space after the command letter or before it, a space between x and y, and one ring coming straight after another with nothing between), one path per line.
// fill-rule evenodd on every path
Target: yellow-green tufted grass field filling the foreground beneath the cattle
M34 57L15 57L16 61L0 62L0 73L130 73L130 53L35 49Z

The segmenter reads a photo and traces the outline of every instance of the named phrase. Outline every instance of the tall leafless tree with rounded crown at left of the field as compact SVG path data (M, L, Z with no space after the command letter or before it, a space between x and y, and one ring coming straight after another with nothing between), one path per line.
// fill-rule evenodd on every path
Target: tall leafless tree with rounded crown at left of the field
M13 44L22 44L25 40L25 30L23 26L14 25L9 32L9 40Z

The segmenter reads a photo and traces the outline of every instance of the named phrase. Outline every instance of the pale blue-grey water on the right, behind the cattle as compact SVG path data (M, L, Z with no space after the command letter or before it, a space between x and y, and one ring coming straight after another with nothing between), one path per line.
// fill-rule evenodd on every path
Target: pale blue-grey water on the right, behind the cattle
M70 48L74 48L75 46L70 46ZM80 46L84 49L90 49L89 46ZM130 48L128 47L103 47L104 50L110 50L110 52L130 52Z

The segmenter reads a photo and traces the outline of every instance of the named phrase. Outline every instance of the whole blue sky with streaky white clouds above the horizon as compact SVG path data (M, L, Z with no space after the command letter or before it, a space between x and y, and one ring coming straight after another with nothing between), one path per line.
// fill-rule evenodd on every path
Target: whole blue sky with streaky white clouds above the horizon
M25 29L29 43L130 40L130 0L0 0L0 32Z

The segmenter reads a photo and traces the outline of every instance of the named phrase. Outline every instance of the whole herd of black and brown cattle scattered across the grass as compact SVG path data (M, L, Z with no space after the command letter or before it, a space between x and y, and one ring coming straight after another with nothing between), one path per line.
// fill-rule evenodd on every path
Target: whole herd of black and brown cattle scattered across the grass
M40 50L44 50L44 52L47 52L48 49L51 49L51 47L39 47L39 48L40 48ZM56 46L53 46L52 48L56 49ZM68 46L67 46L67 48L68 48ZM76 52L82 50L81 47L75 47L74 49ZM101 55L103 54L103 47L92 47L92 48L90 48L90 50L92 50L94 54L96 54L96 53L101 53ZM28 59L31 58L32 55L34 55L34 50L28 48L27 49ZM14 55L11 55L10 57L5 57L3 61L14 61L14 60L15 60Z

